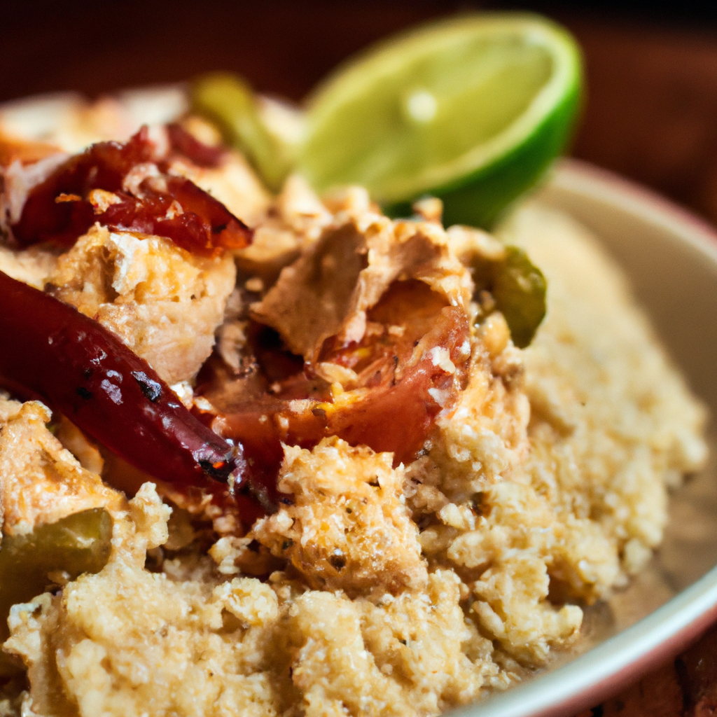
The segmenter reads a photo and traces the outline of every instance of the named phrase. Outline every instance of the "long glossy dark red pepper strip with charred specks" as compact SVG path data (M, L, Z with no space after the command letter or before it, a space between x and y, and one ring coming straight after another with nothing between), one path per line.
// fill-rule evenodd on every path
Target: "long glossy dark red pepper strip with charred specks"
M231 475L239 514L263 512L255 496L266 491L250 481L242 446L196 419L113 333L3 272L0 307L1 383L47 402L143 473L178 490L203 488L223 493L226 502L222 483Z

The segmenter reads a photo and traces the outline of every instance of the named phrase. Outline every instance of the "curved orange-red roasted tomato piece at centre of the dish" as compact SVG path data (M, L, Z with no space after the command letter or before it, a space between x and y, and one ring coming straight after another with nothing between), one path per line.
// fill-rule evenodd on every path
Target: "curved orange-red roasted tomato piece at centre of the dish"
M368 319L360 343L326 342L318 377L307 370L270 385L256 376L232 384L214 364L200 389L217 409L214 430L241 435L247 459L267 472L280 465L281 442L313 447L329 435L393 452L396 465L414 460L437 415L452 409L464 387L467 315L424 283L406 281L394 282ZM256 371L271 370L267 352L263 364L257 361ZM343 376L346 390L332 389L332 371Z

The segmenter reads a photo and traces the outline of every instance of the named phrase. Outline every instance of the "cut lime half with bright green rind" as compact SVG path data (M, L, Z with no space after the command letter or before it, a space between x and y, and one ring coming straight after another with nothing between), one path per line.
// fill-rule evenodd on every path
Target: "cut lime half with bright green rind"
M576 42L533 14L458 16L393 37L308 99L299 167L317 189L362 184L386 209L444 201L446 224L490 227L571 134Z

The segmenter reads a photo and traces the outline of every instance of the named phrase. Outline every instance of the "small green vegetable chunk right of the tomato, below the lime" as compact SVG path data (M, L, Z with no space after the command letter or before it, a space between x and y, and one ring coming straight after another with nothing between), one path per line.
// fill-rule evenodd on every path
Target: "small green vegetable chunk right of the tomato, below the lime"
M505 247L505 260L474 267L476 290L487 289L495 308L505 317L513 343L526 348L545 316L546 280L528 255L518 247Z

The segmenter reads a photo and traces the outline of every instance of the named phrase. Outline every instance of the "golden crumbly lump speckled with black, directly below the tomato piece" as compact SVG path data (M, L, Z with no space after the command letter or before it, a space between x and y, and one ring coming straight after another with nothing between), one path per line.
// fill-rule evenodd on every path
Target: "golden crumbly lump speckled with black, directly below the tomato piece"
M427 571L391 454L325 438L313 451L285 447L279 490L293 494L252 535L288 559L313 588L349 597L421 590Z

